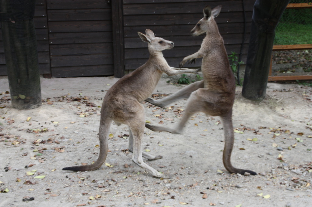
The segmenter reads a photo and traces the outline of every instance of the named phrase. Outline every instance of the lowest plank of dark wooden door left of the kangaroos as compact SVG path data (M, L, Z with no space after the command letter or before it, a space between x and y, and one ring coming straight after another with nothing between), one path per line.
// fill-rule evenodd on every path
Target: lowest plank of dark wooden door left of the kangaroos
M113 65L93 65L75 67L53 67L52 77L83 77L83 76L110 76L114 75Z

